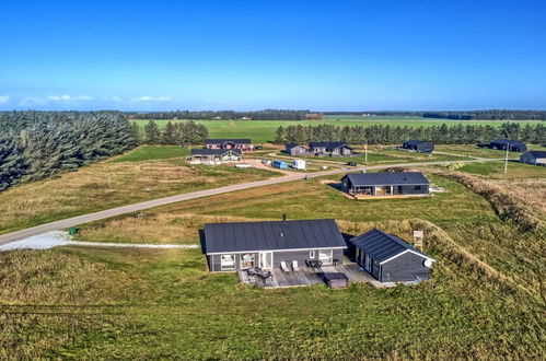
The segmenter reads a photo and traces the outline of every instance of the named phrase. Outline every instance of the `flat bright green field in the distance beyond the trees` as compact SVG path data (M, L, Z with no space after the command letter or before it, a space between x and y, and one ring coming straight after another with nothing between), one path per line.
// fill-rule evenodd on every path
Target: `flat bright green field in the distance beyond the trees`
M136 119L132 120L137 123L140 127L143 127L148 120ZM160 128L164 128L169 120L155 120ZM186 120L172 120L172 121L186 121ZM280 126L287 127L290 125L317 125L317 124L333 124L337 126L357 126L361 125L363 127L369 127L373 125L390 125L396 126L411 126L411 127L430 127L439 126L442 124L448 125L491 125L500 126L506 123L503 120L423 120L421 117L370 117L365 119L353 119L353 118L340 118L337 119L326 119L326 120L196 120L196 123L202 124L209 130L210 138L251 138L255 143L264 143L272 141L275 139L275 131ZM526 124L537 124L538 121L533 120L521 120L518 121L522 126Z

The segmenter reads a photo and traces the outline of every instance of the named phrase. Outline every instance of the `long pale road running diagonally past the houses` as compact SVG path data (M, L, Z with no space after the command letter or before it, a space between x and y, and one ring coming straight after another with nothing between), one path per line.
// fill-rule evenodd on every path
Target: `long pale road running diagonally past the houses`
M358 166L358 167L351 168L350 172L384 170L384 168L397 167L397 166L416 167L416 166L428 166L428 165L446 165L450 163L475 163L475 162L491 162L491 161L499 161L499 160L498 159L478 159L478 160L464 160L464 161L397 163L397 164L374 165L374 166ZM321 171L321 172L313 172L313 173L305 173L305 174L300 174L300 173L294 174L293 172L290 172L289 175L276 177L276 178L270 178L270 179L266 179L266 180L235 184L235 185L231 185L231 186L193 191L193 193L187 193L187 194L183 194L183 195L158 198L158 199L148 200L148 201L139 202L139 203L116 207L116 208L106 209L106 210L98 211L98 212L67 218L67 219L63 219L60 221L44 223L44 224L32 226L32 228L28 228L25 230L5 233L5 234L0 235L0 245L7 244L10 242L14 242L14 241L19 241L19 240L23 240L23 238L27 238L27 237L31 237L31 236L34 236L37 234L42 234L42 233L46 233L46 232L50 232L50 231L62 230L62 229L67 229L70 226L74 226L74 225L79 225L79 224L83 224L83 223L88 223L88 222L93 222L93 221L97 221L97 220L102 220L102 219L106 219L106 218L111 218L111 217L115 217L115 216L120 216L120 214L125 214L125 213L137 212L137 211L143 210L143 209L164 206L164 205L169 205L169 203L175 203L175 202L179 202L179 201L184 201L184 200L190 200L190 199L196 199L196 198L221 195L224 193L242 190L242 189L270 186L270 185L280 184L280 183L300 180L303 178L303 176L309 177L309 178L314 178L314 177L322 177L322 176L328 176L328 175L344 174L347 172L348 172L348 170L346 170L346 168Z

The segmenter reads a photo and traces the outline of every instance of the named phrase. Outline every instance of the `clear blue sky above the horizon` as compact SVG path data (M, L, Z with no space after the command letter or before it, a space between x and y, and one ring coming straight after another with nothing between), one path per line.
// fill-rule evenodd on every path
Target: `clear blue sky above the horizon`
M546 109L545 1L0 1L0 109Z

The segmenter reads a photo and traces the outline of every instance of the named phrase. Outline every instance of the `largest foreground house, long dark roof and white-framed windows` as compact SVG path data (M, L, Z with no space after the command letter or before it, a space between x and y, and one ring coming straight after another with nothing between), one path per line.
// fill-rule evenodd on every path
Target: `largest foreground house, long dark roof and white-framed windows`
M204 236L211 272L272 270L294 260L301 266L310 261L333 265L347 248L332 219L208 223Z

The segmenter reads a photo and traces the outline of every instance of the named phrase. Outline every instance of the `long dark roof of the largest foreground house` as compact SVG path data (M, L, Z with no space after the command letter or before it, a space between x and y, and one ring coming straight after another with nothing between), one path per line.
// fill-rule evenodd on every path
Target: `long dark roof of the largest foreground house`
M334 220L205 224L207 254L347 247Z

